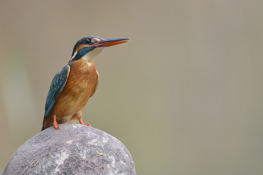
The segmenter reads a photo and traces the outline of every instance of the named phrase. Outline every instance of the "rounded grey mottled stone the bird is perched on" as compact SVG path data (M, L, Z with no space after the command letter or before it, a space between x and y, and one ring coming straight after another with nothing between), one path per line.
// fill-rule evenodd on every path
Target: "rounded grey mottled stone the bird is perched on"
M60 124L27 140L1 175L136 175L130 152L93 127Z

